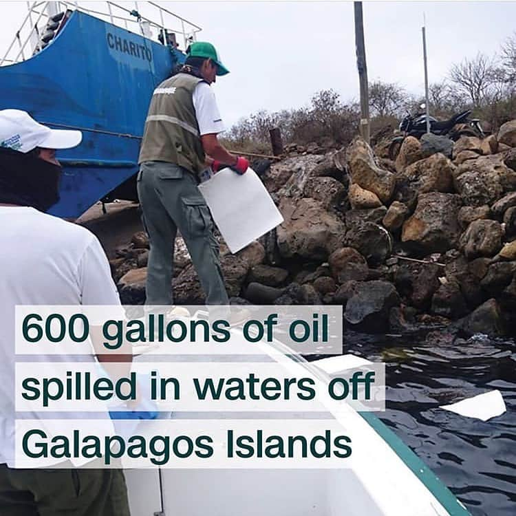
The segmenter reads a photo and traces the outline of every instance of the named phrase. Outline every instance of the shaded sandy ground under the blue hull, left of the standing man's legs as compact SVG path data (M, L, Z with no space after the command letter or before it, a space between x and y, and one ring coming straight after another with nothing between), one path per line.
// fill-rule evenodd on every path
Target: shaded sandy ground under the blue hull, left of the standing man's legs
M106 204L107 213L102 213L102 204L98 202L81 215L76 223L85 226L94 233L109 258L113 258L118 247L131 241L131 236L142 231L140 208L138 203L129 201L110 202Z

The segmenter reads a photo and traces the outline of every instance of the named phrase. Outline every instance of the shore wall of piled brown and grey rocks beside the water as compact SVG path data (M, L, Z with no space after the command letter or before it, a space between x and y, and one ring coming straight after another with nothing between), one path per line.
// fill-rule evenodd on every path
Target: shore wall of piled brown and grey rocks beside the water
M287 147L261 175L285 222L237 255L220 242L231 301L341 304L364 332L515 334L516 120L484 140L406 138L395 162L388 147ZM203 303L175 246L175 302ZM136 233L110 261L123 303L144 302L148 247Z

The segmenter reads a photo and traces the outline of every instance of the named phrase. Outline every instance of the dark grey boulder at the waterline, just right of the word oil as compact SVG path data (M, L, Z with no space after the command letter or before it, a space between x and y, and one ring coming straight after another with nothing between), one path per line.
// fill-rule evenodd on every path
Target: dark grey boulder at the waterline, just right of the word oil
M367 333L384 332L389 327L389 311L398 305L400 297L391 283L365 281L347 301L344 319Z

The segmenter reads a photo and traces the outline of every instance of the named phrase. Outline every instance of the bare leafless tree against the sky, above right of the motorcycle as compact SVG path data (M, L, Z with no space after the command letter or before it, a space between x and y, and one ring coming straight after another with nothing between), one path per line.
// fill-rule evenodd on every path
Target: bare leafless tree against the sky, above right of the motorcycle
M451 67L450 80L469 97L473 107L482 106L497 80L492 63L492 59L479 52L475 58L465 58L462 63Z

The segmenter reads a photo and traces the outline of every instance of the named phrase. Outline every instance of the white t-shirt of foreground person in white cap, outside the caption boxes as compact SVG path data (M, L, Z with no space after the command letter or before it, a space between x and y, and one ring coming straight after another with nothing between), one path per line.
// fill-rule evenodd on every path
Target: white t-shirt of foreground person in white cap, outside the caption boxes
M34 208L0 206L0 241L0 464L12 466L15 306L120 305L120 298L105 252L86 228Z

